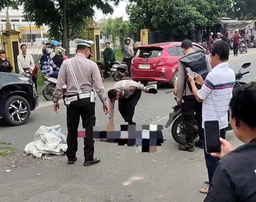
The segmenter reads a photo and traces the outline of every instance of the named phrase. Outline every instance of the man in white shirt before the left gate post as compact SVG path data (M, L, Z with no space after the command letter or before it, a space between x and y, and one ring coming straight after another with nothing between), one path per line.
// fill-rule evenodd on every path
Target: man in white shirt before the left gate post
M35 62L34 59L30 54L27 53L27 45L22 44L20 46L20 49L22 50L22 53L18 55L18 67L21 75L26 75L25 71L29 71L30 74L35 68Z

